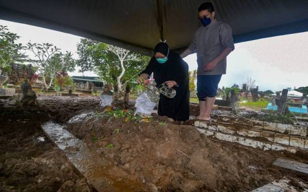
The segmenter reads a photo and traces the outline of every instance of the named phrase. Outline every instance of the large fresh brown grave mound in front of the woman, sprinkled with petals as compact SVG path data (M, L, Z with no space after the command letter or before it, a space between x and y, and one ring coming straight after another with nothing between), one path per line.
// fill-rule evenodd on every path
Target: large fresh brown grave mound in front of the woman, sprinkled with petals
M87 116L67 129L162 191L247 191L283 177L270 153L211 140L189 125L114 117Z

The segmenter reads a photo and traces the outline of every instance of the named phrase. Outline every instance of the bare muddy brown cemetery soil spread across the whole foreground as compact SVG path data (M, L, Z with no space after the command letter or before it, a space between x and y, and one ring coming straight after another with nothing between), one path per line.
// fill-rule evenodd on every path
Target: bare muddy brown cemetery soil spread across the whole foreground
M219 134L200 133L193 120L169 122L155 114L141 119L132 106L101 109L93 96L39 95L37 101L26 107L0 100L0 191L251 191L282 179L304 191L308 184L306 174L272 165L277 158L308 163L304 148L281 145L276 151L223 141ZM224 111L213 115L225 124L239 118ZM258 116L242 113L242 119ZM70 157L81 149L57 148L42 131L46 121L80 140L91 154L85 159L101 169L74 166ZM95 180L102 174L103 180Z

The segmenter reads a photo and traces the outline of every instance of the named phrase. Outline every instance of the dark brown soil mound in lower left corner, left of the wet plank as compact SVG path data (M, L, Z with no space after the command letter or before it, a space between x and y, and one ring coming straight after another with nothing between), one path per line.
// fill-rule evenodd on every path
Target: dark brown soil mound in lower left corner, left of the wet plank
M0 125L0 191L93 191L40 122L13 115Z

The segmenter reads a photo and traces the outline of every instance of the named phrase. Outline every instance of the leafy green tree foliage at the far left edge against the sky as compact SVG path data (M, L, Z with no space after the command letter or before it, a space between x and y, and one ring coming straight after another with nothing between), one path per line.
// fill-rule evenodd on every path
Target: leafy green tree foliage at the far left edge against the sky
M22 44L16 44L20 36L9 32L7 26L0 25L0 69L6 72L11 71L11 63L27 61L27 55L21 53L25 50Z

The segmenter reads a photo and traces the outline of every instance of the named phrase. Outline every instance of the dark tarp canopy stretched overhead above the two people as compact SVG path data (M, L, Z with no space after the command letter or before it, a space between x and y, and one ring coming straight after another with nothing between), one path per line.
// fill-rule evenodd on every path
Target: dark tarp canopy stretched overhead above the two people
M151 54L159 39L181 51L198 28L201 0L0 0L0 19ZM212 0L242 42L308 31L307 0Z

